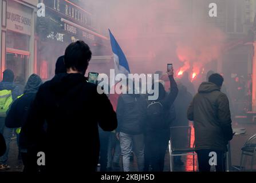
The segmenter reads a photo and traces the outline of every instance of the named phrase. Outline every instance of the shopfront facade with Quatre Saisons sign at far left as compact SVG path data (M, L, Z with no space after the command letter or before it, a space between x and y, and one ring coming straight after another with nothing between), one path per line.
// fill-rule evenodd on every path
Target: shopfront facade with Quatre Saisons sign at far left
M15 81L25 82L34 73L37 1L1 0L0 11L1 73L11 69Z

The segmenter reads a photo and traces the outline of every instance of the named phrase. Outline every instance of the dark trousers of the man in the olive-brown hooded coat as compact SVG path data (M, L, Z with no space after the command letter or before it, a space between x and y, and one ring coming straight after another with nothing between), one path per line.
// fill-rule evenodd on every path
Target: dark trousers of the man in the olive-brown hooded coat
M209 156L211 152L216 153L216 163L215 165L216 172L225 172L226 171L226 152L219 151L219 150L210 150L210 149L202 149L196 150L198 154L198 164L199 164L199 171L200 172L210 172L211 165L210 165L210 158L214 156Z

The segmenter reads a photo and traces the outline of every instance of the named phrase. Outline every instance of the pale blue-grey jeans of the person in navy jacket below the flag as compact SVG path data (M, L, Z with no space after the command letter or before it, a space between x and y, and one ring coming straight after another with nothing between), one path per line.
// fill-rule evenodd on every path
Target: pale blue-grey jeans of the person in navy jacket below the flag
M121 154L123 156L124 172L130 172L130 156L132 149L135 151L139 172L144 170L144 135L129 135L120 132Z

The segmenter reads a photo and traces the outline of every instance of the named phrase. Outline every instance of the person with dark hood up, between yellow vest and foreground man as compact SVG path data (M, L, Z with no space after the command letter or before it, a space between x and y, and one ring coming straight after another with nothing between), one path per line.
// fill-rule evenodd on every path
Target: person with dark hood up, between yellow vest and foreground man
M7 128L22 128L27 120L27 113L31 102L36 97L38 88L42 85L42 79L37 74L30 75L27 80L23 95L13 102L5 119ZM24 164L24 172L31 167L27 158L27 139L23 133L19 134L19 150Z

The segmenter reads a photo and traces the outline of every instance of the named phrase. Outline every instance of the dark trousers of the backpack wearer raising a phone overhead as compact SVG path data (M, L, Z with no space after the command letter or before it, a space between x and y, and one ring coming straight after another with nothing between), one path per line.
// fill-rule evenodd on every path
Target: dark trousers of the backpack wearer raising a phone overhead
M145 171L150 164L153 172L163 172L169 139L168 133L145 134Z

